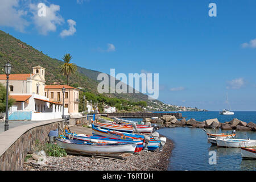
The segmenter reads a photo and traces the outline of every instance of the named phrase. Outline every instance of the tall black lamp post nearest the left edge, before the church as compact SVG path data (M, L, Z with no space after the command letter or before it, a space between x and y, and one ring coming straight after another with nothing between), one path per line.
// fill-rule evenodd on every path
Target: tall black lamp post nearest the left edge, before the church
M8 117L8 100L9 100L9 75L11 74L11 68L13 68L10 64L10 61L4 66L5 74L6 74L6 109L5 109L5 131L9 130L9 117Z

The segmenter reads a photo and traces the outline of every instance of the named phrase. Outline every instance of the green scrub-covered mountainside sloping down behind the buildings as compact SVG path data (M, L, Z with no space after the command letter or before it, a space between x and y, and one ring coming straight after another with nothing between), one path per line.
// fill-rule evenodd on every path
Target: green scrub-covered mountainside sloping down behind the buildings
M7 60L14 66L12 73L31 73L32 67L40 64L40 66L46 68L46 84L53 84L53 82L66 84L66 79L60 73L59 69L59 65L63 64L63 61L52 59L21 40L0 31L0 65L2 65L0 74L4 74L3 65L5 65ZM77 72L71 75L69 84L81 87L85 92L97 93L97 76L99 73L101 72L78 66ZM146 101L148 105L154 105L153 101L148 100L148 96L142 93L107 95L109 95L109 97L122 98L135 102ZM162 103L160 101L154 102Z

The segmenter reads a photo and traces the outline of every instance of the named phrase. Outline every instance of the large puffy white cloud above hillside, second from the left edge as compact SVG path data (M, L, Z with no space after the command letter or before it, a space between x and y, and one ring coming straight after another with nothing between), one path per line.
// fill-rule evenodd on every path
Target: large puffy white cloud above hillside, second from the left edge
M46 6L46 16L38 16L38 6L35 4L30 4L30 10L34 15L32 19L40 34L47 35L49 31L55 32L57 25L63 24L64 22L62 16L57 13L60 11L59 5L51 4Z

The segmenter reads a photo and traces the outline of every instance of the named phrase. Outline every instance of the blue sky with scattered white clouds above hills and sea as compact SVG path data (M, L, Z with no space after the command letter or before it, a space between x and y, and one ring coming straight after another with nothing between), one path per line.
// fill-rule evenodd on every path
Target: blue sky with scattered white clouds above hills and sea
M104 73L159 73L166 104L222 110L228 93L232 110L256 110L254 0L0 3L0 29L48 56L71 53L73 63Z

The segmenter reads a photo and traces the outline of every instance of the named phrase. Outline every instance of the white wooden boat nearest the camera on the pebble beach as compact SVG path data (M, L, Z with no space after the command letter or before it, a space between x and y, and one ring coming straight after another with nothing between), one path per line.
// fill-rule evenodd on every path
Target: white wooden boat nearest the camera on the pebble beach
M130 156L137 144L130 143L88 143L83 140L57 138L56 143L69 154L102 155L102 156Z

